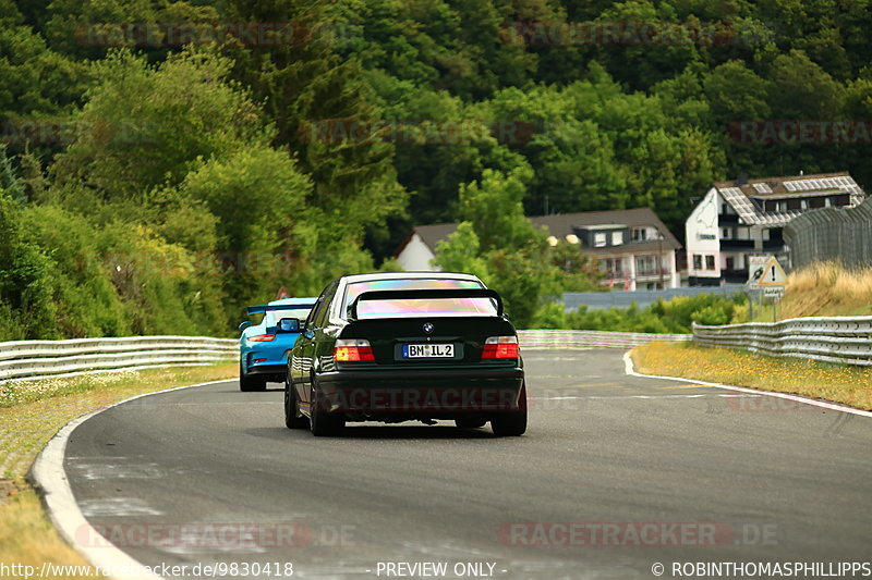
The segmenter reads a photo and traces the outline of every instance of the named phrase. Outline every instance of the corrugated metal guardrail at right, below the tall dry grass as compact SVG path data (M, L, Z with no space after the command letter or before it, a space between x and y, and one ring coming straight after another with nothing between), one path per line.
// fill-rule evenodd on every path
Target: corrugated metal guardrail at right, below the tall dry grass
M872 317L809 317L724 326L694 324L693 342L774 357L872 366Z

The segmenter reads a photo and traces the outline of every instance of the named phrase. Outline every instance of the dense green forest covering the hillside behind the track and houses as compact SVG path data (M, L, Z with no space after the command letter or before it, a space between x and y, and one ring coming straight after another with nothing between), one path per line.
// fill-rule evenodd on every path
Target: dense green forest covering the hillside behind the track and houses
M228 335L443 221L525 325L595 273L524 214L867 183L870 37L867 0L0 0L0 341Z

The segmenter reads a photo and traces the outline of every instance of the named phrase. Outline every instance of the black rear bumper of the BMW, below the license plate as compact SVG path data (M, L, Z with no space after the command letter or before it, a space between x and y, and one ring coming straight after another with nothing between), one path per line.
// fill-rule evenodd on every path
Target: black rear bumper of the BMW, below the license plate
M332 371L317 377L319 400L329 412L449 418L518 410L524 371L483 370Z

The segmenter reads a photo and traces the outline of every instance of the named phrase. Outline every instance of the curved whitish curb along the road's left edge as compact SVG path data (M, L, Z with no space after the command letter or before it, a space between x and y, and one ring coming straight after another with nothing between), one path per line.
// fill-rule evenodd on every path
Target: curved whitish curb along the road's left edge
M34 483L37 491L40 492L43 504L46 506L46 510L61 536L73 550L82 554L93 567L99 567L106 576L114 580L162 580L160 576L152 572L145 565L136 562L112 544L97 547L82 546L76 542L76 535L87 534L88 538L94 538L98 536L99 532L88 523L82 510L78 509L78 505L75 503L75 497L73 496L73 491L70 488L70 482L66 479L66 472L63 469L66 443L70 440L70 435L73 434L73 431L92 417L137 398L233 381L235 381L235 379L165 388L164 391L135 395L124 400L100 407L63 425L39 453L31 468L28 479Z

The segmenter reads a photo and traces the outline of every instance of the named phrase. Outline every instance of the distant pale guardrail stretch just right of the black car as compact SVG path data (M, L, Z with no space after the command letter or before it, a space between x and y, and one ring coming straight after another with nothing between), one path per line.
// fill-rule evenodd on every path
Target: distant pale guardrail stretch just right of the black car
M692 334L653 334L645 332L605 332L529 330L518 331L522 349L558 348L632 348L653 341L690 341Z

